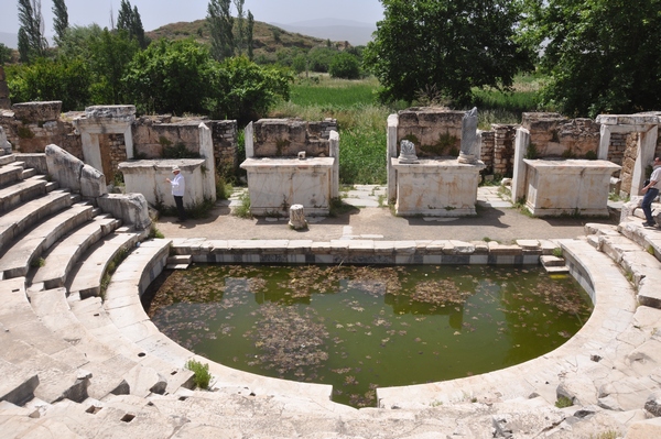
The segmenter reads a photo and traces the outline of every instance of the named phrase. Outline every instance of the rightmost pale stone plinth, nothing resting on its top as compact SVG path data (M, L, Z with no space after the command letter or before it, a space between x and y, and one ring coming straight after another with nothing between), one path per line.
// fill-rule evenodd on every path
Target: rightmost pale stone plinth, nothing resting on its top
M620 166L604 160L523 160L525 207L535 217L608 216L610 176Z

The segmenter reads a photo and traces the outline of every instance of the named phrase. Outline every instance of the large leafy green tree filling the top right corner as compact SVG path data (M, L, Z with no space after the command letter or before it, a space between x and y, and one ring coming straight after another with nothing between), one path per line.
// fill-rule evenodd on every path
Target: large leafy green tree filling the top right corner
M528 0L523 39L543 46L542 97L572 117L661 108L661 0Z

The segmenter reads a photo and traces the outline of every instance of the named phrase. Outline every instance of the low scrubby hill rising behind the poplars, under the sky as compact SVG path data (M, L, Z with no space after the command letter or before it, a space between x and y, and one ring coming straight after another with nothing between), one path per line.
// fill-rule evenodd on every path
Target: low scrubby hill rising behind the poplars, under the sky
M210 36L206 20L171 23L154 31L145 32L145 34L152 40L162 37L170 40L194 37L196 41L205 44L208 44ZM288 32L281 28L261 21L254 22L252 40L254 58L259 59L263 56L269 61L275 61L275 53L281 48L300 47L310 50L312 47L326 45L327 43L327 40ZM334 41L334 45L346 47L347 44L345 40L340 40Z

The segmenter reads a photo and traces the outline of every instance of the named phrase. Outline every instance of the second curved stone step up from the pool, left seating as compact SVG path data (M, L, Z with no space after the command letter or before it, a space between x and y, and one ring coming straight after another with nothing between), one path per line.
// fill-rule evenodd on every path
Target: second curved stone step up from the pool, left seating
M45 254L43 266L36 268L30 283L32 285L43 284L43 289L64 286L80 255L98 240L116 230L120 223L121 221L115 218L97 216L90 222L72 231Z

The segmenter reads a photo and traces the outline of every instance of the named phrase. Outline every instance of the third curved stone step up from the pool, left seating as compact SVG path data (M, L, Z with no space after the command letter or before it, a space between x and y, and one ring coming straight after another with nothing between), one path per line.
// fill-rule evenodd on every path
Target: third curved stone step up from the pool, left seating
M89 221L91 213L91 205L74 205L18 238L13 245L7 246L4 254L0 257L0 272L3 273L3 277L28 275L33 261L41 257L42 253L64 234Z

